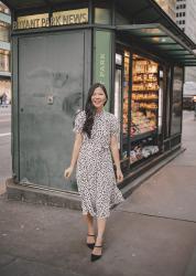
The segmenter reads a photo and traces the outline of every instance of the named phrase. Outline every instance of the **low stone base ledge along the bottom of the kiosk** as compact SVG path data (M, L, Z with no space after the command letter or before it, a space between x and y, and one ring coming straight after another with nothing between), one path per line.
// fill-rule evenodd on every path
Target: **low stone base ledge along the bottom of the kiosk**
M157 170L163 168L175 157L184 152L184 150L185 149L179 148L172 155L165 157L162 161L156 163L151 169L148 169L142 174L140 173L141 177L137 177L135 179L132 180L131 178L130 180L128 178L127 182L128 180L129 182L121 188L121 192L124 199L128 198L137 188L139 188L148 178L153 176ZM8 200L17 200L35 204L68 208L72 210L81 211L80 197L77 192L58 191L55 189L48 189L45 187L39 187L34 184L21 184L21 183L19 184L15 183L12 178L6 181L6 187L7 187Z

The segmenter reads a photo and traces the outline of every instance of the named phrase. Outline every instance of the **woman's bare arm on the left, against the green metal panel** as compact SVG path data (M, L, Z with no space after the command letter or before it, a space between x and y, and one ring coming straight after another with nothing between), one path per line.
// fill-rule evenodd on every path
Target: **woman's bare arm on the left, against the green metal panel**
M76 134L75 136L75 141L74 141L74 148L73 148L73 153L72 153L72 159L70 159L70 166L65 169L64 177L69 178L70 174L73 173L74 167L77 162L79 150L81 147L83 142L83 135L79 132Z

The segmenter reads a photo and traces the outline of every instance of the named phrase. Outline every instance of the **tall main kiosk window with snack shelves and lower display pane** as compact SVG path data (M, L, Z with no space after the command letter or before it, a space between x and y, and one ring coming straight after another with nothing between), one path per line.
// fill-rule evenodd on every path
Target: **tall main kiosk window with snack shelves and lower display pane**
M159 152L159 64L133 54L130 163Z

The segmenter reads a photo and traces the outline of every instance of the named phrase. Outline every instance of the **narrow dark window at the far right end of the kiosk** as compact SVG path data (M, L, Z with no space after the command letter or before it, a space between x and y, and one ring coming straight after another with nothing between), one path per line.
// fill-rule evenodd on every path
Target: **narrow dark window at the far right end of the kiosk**
M182 131L183 68L174 67L171 135Z

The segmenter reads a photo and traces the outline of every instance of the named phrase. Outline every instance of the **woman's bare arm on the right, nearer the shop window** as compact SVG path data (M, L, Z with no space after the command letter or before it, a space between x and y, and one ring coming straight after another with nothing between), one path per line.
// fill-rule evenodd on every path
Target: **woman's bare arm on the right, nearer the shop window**
M122 171L120 168L120 158L119 158L117 135L111 136L110 149L111 149L111 155L112 155L116 168L117 168L117 180L120 182L123 180L123 174L122 174Z

